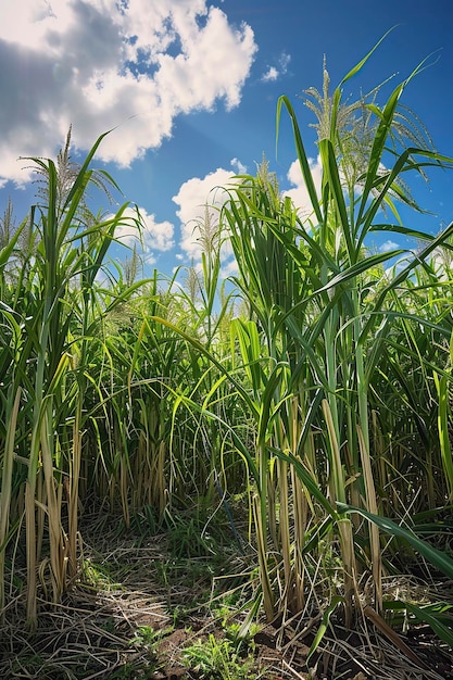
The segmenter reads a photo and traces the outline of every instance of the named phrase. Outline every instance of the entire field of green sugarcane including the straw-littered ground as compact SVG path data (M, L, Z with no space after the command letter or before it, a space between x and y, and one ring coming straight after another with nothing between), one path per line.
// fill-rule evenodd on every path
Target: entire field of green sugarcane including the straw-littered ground
M343 100L366 59L305 92L320 190L278 100L311 210L263 161L173 279L110 259L102 138L29 160L0 222L2 677L453 677L453 224L403 217L452 160L402 103L417 71Z

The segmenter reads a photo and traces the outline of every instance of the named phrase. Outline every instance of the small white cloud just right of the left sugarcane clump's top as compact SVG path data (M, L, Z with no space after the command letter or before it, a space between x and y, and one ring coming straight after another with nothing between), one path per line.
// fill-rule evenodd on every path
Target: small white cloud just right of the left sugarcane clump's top
M125 210L115 238L128 248L137 245L148 264L153 264L160 252L171 250L175 244L174 225L167 221L156 222L155 215L147 213L143 207Z

